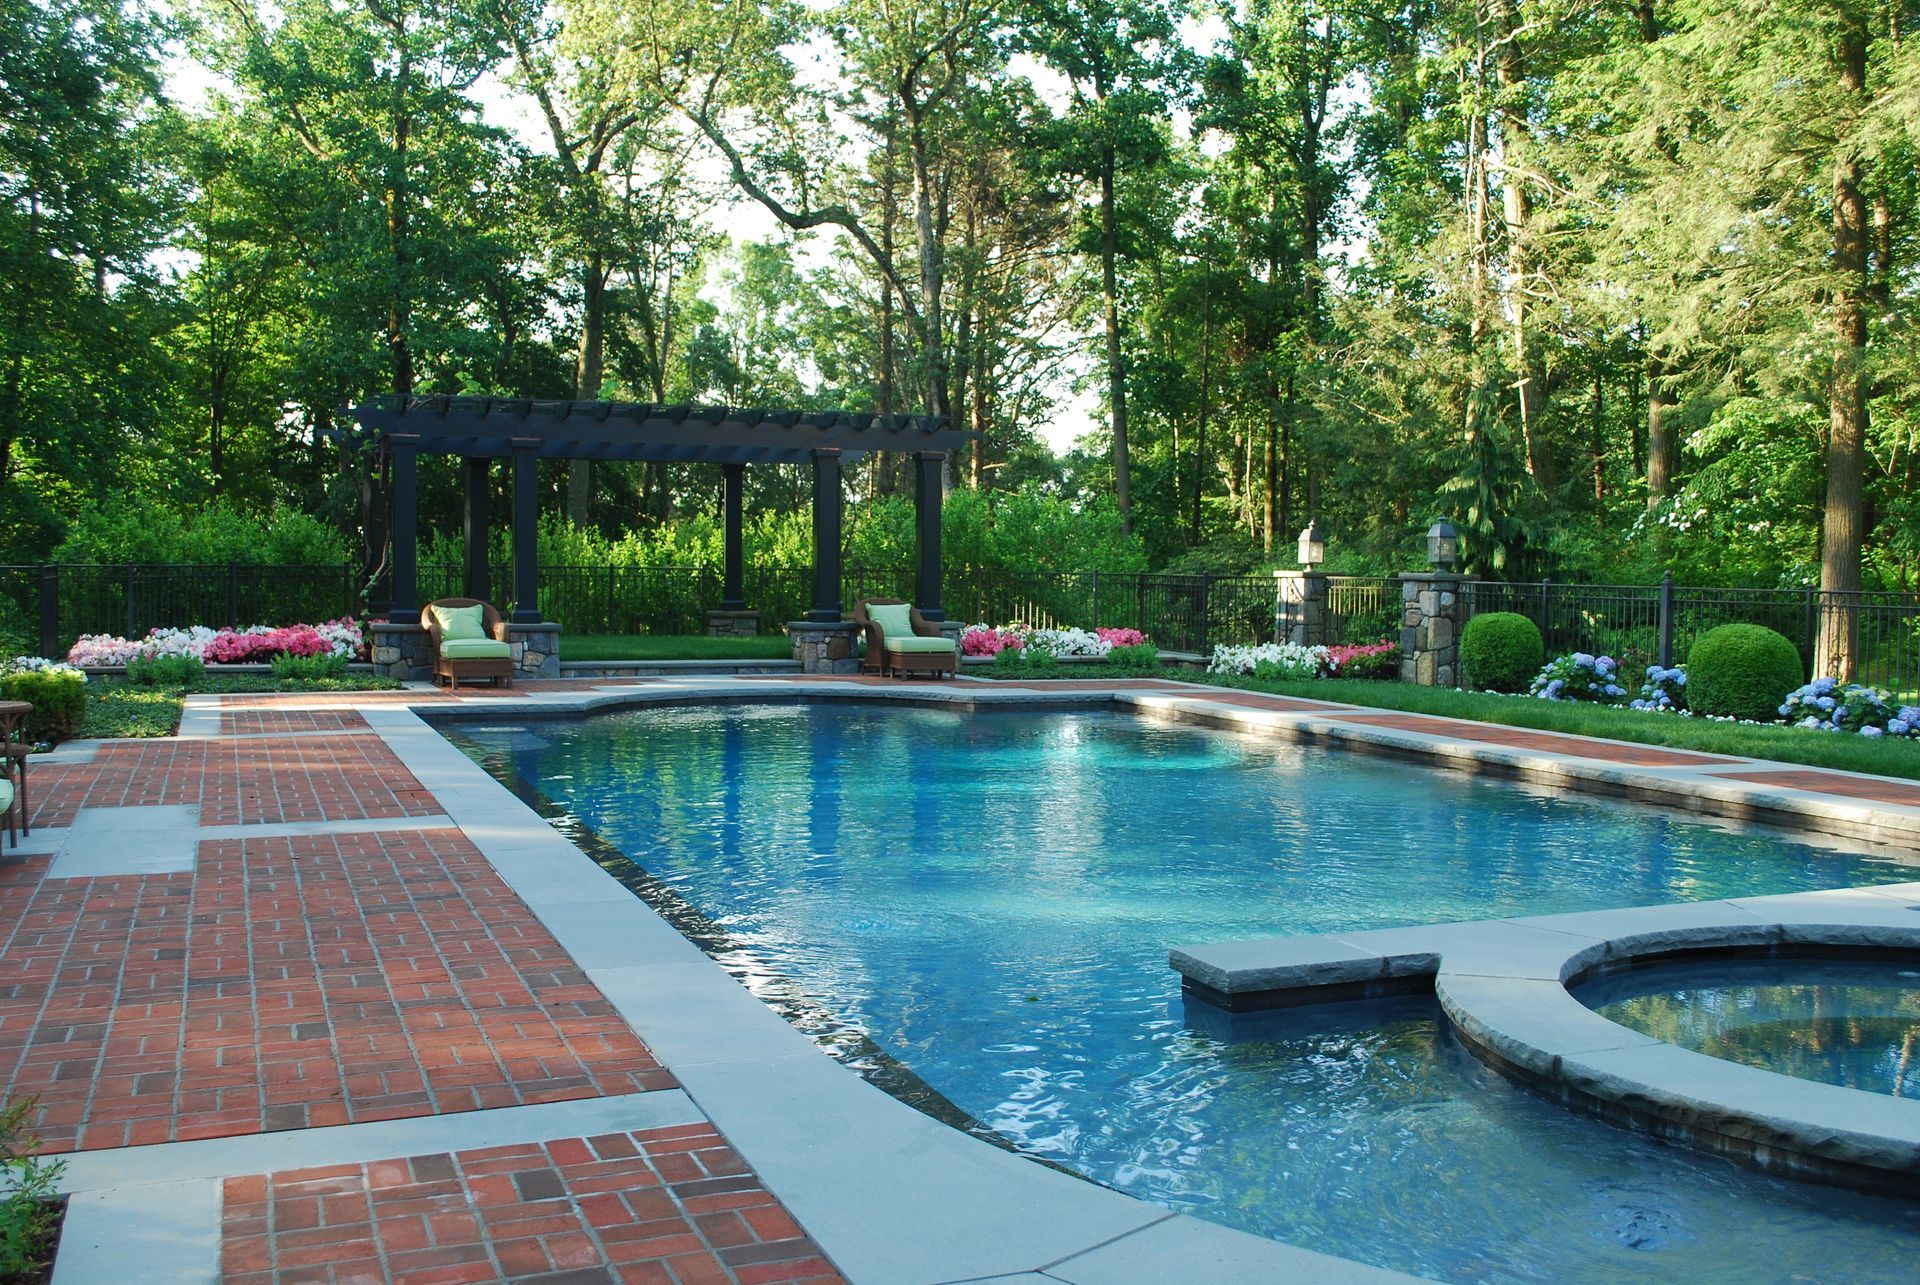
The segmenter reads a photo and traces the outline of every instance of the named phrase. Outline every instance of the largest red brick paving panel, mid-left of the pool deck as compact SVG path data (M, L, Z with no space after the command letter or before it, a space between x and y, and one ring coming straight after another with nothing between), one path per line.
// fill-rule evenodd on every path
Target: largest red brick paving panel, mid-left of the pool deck
M0 1091L40 1097L48 1151L674 1083L457 830L44 872L0 868Z

